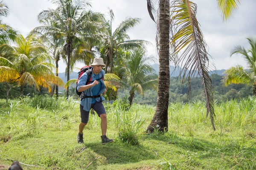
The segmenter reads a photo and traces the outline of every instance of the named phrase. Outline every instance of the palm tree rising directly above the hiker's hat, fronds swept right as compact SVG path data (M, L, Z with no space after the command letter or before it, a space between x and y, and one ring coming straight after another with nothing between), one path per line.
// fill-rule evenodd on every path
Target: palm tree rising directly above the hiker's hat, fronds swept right
M108 67L110 67L110 73L113 73L113 58L115 57L118 48L130 49L137 46L144 46L148 43L145 40L130 40L130 36L127 32L140 23L139 18L126 18L122 23L117 26L116 30L112 30L112 22L114 20L114 13L112 9L109 9L109 20L105 20L103 31L103 42L101 47L102 56L106 57L105 72L108 73Z

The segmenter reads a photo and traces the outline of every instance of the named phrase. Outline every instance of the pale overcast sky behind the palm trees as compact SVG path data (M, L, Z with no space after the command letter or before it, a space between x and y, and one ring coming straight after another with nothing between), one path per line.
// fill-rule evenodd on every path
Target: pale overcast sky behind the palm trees
M216 69L227 69L237 64L246 67L240 55L230 57L230 51L236 45L249 48L246 37L256 36L255 0L241 0L239 9L227 22L222 22L217 9L216 0L192 0L198 5L197 18L207 42L209 54L214 58ZM9 7L10 15L4 22L26 36L38 23L38 13L47 8L54 8L48 0L4 0ZM141 22L132 28L128 34L131 39L148 40L148 55L156 56L155 35L156 26L150 19L146 0L90 0L92 10L106 14L108 7L113 9L115 20L113 29L125 20L125 17L141 18ZM81 66L78 65L78 67ZM60 63L59 72L64 72L65 65Z

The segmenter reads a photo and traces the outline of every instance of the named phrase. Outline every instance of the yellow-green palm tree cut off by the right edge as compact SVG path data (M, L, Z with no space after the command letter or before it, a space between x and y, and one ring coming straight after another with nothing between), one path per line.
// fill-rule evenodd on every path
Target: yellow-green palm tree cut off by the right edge
M253 85L253 94L256 96L256 39L247 38L250 43L250 49L245 49L242 46L236 46L231 52L233 54L241 54L244 60L247 62L249 70L246 71L241 65L236 65L224 71L223 82L224 84L247 84Z

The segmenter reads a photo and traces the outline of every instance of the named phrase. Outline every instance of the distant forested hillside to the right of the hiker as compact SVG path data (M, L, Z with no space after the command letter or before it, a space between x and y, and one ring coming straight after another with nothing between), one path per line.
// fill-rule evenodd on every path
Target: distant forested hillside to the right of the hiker
M218 74L212 74L212 84L214 88L215 101L226 101L230 99L244 98L249 95L253 95L253 87L249 85L229 85L225 86L222 82L222 76ZM188 102L194 100L204 101L203 88L201 87L201 79L193 78L191 80L191 95L188 96L188 85L181 86L180 79L177 77L171 77L170 81L170 96L169 102ZM125 95L128 96L128 91L120 90L118 93L119 99L124 100ZM144 96L136 95L134 102L138 104L155 105L157 100L157 91L151 89L145 91Z

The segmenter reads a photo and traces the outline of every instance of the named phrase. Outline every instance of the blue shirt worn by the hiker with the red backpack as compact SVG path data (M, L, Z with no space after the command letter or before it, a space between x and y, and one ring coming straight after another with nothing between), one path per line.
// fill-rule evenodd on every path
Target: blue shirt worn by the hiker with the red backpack
M93 68L92 68L93 69ZM104 76L105 75L105 71L102 70L99 72L99 77L102 77L102 75ZM87 82L87 73L84 72L84 74L81 75L81 77L79 78L78 82L77 82L77 90L79 90L79 88L82 86L82 85L86 85L86 82ZM92 73L91 75L91 81L94 81L95 80L95 75ZM104 81L102 79L100 79L99 81L101 81L101 87L98 87L100 88L99 90L99 94L102 94L104 91L105 91L105 84L104 84ZM91 84L92 82L90 82ZM97 88L97 86L93 86L91 88L88 88L86 91L83 91L82 93L84 93L85 96L93 96L93 93L92 93L92 89L93 88ZM99 95L98 94L98 95ZM99 102L100 101L100 98L102 98L102 101L105 100L105 98L103 96L100 96L100 97L97 97L96 98L96 101ZM90 111L90 106L92 104L92 98L84 98L84 99L81 99L80 100L80 105L84 106L84 111Z

